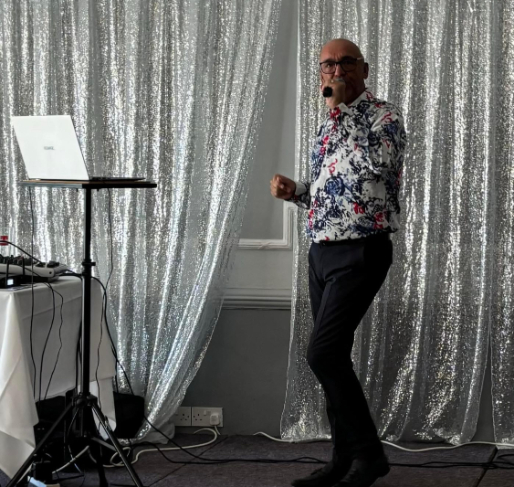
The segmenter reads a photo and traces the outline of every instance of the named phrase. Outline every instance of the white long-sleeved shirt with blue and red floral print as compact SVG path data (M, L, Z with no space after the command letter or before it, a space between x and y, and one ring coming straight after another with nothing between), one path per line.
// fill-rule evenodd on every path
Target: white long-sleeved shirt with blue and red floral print
M398 230L398 193L407 136L400 111L365 90L322 123L310 179L296 181L290 201L309 210L314 242Z

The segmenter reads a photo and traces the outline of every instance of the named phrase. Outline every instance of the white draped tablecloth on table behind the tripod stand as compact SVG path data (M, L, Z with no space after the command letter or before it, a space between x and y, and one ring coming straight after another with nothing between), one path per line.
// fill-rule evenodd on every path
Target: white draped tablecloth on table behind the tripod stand
M80 376L77 344L82 321L82 282L76 277L62 277L51 285L56 291L55 308L52 291L45 284L34 285L33 317L30 286L16 290L0 289L0 469L11 477L35 446L33 427L39 421L36 401L40 397L63 395L75 388L77 374ZM57 293L63 296L64 303ZM90 387L91 392L99 397L102 411L114 428L112 378L115 361L102 319L102 297L102 288L93 280Z

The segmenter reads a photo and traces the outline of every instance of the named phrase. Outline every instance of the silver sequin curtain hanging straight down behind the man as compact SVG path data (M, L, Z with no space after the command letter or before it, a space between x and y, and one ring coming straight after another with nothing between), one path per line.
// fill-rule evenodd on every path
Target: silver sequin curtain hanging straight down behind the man
M368 86L409 134L395 262L353 351L383 439L471 440L491 346L496 441L514 440L513 34L511 0L300 1L296 176L322 121L317 63L331 38L361 47ZM281 424L295 441L330 435L304 358L304 222L299 212Z

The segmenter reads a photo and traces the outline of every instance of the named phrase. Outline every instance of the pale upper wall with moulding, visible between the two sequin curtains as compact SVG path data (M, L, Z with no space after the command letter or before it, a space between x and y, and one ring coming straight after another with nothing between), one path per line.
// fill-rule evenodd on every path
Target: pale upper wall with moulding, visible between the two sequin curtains
M241 242L225 307L289 308L293 206L273 198L275 173L294 176L297 4L284 0Z

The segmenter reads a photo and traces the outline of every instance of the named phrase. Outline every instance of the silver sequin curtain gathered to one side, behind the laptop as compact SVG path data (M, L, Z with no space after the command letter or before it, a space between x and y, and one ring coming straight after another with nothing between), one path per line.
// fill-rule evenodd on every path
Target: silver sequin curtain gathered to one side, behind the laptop
M104 282L113 271L121 363L168 434L220 311L279 8L280 0L0 3L0 226L10 238L30 245L12 115L71 114L90 173L158 182L94 195L93 253ZM36 255L78 269L82 195L37 189L33 202ZM121 383L127 390L122 374ZM148 433L145 425L138 437Z

